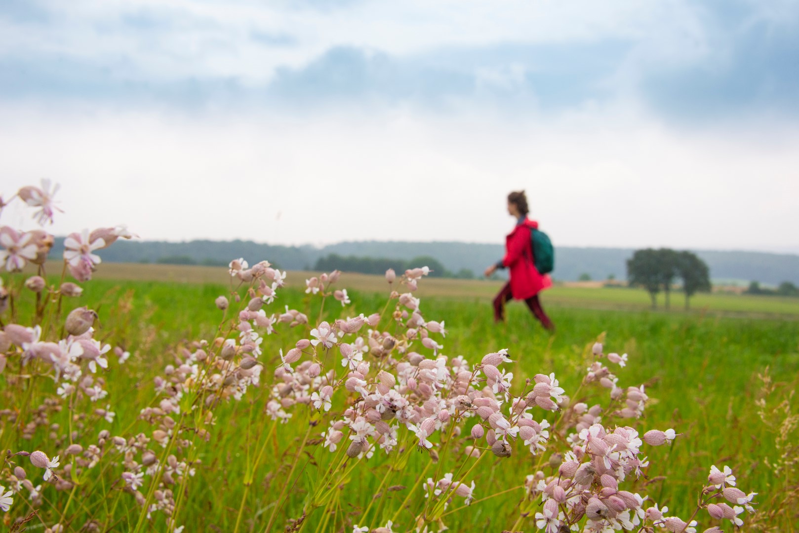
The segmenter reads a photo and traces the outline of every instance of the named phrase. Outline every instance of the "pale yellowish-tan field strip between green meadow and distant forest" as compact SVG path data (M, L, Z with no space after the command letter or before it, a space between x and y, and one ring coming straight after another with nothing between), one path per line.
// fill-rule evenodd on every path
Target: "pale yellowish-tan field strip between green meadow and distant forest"
M61 271L61 264L48 262L48 274ZM319 272L288 272L291 286L302 284L310 276ZM95 273L97 279L171 281L176 283L229 284L226 268L195 265L141 265L135 263L103 263ZM495 280L453 280L427 278L419 285L421 297L445 297L456 299L489 301L502 286ZM388 283L383 276L372 276L344 272L340 286L359 292L386 292ZM545 304L553 307L622 309L646 311L650 309L649 295L639 289L630 288L584 288L555 286L544 293ZM663 295L658 295L658 309L662 310ZM671 295L671 310L682 312L684 299L681 292ZM691 299L690 312L712 312L726 316L745 316L763 318L799 318L799 298L780 296L749 296L725 293L698 294Z

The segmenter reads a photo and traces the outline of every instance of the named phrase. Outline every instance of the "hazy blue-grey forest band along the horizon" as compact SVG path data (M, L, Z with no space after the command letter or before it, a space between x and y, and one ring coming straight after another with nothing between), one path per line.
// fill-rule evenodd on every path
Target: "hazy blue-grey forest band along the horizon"
M783 281L799 284L799 255L759 252L718 252L693 250L710 267L714 280L758 281L776 287ZM52 254L60 257L63 238L58 238ZM435 275L481 276L483 270L503 256L502 245L462 242L342 242L316 248L314 246L264 245L252 241L117 241L101 250L103 261L114 263L173 263L180 265L227 265L233 258L244 257L256 262L267 259L288 270L385 272L395 268L401 272L415 258L437 264L428 265ZM559 247L555 243L557 280L617 280L626 278L626 260L634 249ZM340 266L335 266L340 265ZM421 265L414 265L421 266ZM471 271L471 272L470 272Z

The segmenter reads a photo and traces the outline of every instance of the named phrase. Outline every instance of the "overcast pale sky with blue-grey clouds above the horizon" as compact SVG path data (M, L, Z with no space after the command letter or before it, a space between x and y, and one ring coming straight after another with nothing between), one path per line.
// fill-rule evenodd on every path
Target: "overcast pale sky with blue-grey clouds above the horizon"
M0 0L52 231L799 253L797 0ZM5 224L26 222L9 209Z

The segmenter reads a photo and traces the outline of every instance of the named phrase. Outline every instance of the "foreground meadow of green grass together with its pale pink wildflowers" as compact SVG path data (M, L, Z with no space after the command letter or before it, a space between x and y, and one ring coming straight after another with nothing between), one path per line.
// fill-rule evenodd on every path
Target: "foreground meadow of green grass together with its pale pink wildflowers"
M382 294L268 258L92 280L123 226L45 272L56 190L0 227L9 531L797 528L796 321L564 309L550 335L420 300L424 265Z

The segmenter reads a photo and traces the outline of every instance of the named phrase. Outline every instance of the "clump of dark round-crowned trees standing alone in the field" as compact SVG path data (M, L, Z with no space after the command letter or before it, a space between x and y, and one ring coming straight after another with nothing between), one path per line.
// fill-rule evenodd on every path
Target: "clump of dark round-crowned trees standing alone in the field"
M669 308L672 286L677 278L682 280L682 292L689 300L697 292L710 292L710 268L695 253L662 249L636 250L627 260L627 281L630 286L645 288L650 293L652 308L658 304L658 292L666 296Z

